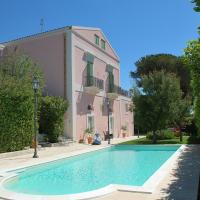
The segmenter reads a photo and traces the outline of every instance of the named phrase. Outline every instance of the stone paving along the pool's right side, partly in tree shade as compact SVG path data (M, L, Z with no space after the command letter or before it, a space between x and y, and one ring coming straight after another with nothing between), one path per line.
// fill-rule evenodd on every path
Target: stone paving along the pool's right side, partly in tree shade
M99 200L197 200L200 145L188 145L152 194L113 192Z

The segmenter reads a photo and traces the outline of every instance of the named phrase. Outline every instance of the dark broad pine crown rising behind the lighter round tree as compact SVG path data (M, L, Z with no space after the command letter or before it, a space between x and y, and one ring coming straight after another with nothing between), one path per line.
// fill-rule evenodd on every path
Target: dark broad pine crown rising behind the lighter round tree
M148 55L140 58L135 65L137 69L135 72L131 72L131 77L137 79L137 86L140 87L142 75L164 70L166 73L174 73L180 78L183 97L190 94L190 70L187 68L182 57L171 54Z

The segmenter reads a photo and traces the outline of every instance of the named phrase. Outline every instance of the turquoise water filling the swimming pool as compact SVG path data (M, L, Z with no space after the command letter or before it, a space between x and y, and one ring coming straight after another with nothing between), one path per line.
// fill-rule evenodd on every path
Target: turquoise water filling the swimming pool
M109 184L141 186L179 147L117 145L27 168L4 187L20 193L61 195Z

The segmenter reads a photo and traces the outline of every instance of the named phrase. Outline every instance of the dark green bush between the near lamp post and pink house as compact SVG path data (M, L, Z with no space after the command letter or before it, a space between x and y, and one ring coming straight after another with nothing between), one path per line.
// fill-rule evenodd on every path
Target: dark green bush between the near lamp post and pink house
M61 97L42 97L39 130L47 134L49 142L58 142L58 137L63 134L67 107L67 101Z

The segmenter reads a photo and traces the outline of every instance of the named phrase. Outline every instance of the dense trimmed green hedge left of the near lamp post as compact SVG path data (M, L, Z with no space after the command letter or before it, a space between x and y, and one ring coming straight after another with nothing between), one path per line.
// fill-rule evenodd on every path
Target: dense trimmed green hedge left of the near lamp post
M0 94L0 153L21 150L31 145L33 111L30 97Z

